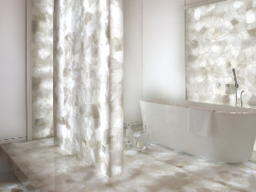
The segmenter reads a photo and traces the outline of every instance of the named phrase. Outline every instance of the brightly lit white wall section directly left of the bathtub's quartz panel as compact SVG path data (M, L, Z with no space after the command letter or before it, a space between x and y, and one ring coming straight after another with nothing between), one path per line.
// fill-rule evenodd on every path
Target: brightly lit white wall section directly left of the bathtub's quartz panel
M144 98L186 99L185 0L144 0Z

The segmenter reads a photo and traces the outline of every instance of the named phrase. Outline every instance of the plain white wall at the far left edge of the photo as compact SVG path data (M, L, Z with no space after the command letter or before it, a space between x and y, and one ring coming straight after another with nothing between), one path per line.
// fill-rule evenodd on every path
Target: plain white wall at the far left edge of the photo
M26 0L0 0L0 144L27 140Z

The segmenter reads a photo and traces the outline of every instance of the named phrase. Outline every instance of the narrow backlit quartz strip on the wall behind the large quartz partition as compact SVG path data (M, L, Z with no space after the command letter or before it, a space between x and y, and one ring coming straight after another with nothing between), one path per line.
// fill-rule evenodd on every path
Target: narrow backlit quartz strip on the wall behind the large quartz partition
M33 139L53 136L53 2L32 0Z

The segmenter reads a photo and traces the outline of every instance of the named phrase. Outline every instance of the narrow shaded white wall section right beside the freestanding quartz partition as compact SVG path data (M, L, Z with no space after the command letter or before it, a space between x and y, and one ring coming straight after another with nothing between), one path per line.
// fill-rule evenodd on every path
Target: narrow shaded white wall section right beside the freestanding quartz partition
M142 0L124 0L123 4L123 122L141 123Z

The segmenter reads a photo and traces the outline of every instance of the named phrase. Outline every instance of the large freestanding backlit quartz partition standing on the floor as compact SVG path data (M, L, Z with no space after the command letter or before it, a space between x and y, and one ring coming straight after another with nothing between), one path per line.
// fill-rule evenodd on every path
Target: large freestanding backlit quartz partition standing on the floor
M55 143L107 176L123 172L123 1L56 0Z

